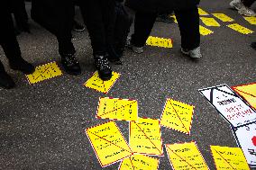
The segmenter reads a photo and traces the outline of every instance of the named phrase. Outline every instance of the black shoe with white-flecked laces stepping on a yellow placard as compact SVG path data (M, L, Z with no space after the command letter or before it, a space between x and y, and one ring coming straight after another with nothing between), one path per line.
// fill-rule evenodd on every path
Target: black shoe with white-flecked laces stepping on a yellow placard
M95 56L96 69L98 70L99 77L106 81L112 77L112 70L109 66L106 56Z

